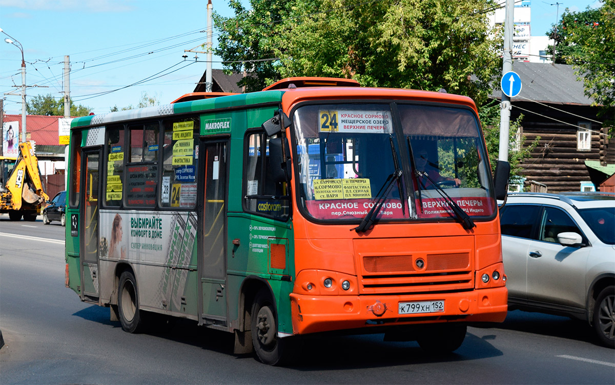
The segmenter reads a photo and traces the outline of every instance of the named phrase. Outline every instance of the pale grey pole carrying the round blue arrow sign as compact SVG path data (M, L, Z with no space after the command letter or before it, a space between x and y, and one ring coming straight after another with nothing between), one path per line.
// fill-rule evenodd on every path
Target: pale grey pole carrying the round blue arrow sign
M512 71L512 33L514 29L514 0L506 0L506 17L504 18L504 55L502 76ZM500 138L498 160L508 162L508 140L510 132L510 97L502 90L502 103L500 104Z

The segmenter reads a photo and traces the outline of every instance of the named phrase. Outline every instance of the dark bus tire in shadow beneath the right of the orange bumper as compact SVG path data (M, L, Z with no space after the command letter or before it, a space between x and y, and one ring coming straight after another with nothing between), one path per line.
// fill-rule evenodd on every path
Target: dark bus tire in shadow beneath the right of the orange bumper
M467 325L465 323L427 325L417 342L428 353L449 354L459 349L466 338L466 332Z

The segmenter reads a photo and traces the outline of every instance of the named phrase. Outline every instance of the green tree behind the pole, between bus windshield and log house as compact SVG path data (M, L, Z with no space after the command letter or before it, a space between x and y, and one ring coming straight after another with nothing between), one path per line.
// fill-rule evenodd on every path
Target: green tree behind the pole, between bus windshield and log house
M483 135L485 135L485 143L487 151L489 153L489 161L491 163L491 172L495 172L495 167L498 164L499 156L499 124L500 124L500 105L496 101L487 103L478 109L478 115L480 116L480 122L483 126ZM518 181L525 177L523 173L523 167L521 166L525 159L531 156L532 151L538 146L540 137L536 137L532 143L527 146L523 146L525 143L525 136L521 138L517 137L519 127L521 127L523 121L523 114L520 115L515 121L510 122L509 129L509 145L508 145L508 157L510 163L510 180ZM517 146L517 141L520 146Z

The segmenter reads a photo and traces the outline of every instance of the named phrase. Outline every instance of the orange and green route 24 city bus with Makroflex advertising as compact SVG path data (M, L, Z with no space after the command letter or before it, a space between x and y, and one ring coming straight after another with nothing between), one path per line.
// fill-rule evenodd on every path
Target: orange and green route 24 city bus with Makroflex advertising
M280 365L315 333L451 352L506 317L509 171L470 98L288 78L70 135L65 284L129 333L180 317Z

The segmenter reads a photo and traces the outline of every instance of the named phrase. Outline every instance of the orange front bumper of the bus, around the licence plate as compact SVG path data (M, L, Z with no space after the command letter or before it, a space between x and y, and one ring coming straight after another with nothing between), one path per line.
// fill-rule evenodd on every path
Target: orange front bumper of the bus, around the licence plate
M472 292L421 295L290 294L294 334L373 326L440 322L502 322L506 318L506 287ZM444 301L443 311L400 314L399 304ZM405 306L408 308L408 305ZM419 306L416 306L419 307Z

